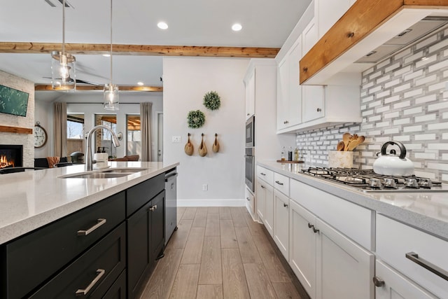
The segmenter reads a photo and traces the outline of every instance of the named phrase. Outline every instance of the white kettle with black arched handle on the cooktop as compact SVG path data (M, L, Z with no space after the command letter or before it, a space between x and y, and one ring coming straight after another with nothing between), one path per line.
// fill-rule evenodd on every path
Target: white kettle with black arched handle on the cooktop
M389 145L398 146L400 155L396 155L395 150L387 154L386 148ZM414 163L406 158L406 148L400 141L387 141L381 146L381 155L373 162L373 171L389 176L410 176L414 174Z

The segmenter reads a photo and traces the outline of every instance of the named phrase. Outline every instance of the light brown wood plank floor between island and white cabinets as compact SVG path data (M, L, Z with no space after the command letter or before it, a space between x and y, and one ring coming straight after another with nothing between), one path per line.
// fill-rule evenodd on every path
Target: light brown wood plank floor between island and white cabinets
M178 228L141 299L307 298L245 207L179 207Z

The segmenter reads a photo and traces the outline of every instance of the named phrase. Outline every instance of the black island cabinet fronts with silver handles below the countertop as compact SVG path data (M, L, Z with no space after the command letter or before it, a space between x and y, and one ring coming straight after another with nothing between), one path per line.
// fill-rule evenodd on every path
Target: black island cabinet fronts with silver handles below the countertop
M165 174L0 246L0 298L136 298L162 256Z

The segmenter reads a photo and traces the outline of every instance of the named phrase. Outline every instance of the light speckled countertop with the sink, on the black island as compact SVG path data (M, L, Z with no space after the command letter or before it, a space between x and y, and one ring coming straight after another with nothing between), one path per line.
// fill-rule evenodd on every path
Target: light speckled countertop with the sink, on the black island
M85 172L85 165L0 174L0 244L151 179L179 163L109 162L109 165L146 170L112 179L60 177ZM106 169L94 172L103 170Z

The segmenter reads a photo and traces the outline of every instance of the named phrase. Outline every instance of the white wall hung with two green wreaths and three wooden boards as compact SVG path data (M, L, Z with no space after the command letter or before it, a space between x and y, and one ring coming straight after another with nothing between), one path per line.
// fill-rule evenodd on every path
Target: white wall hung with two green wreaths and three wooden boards
M179 205L244 205L245 91L243 78L249 60L231 58L165 57L163 61L164 161L180 162L178 167ZM221 108L209 111L202 104L206 92L221 96ZM190 129L187 114L201 110L206 122ZM195 153L186 155L187 134ZM208 153L197 153L205 134ZM214 134L221 145L211 151ZM181 136L181 143L172 143ZM208 190L202 191L202 185Z

